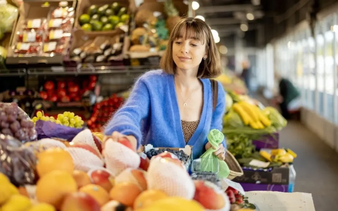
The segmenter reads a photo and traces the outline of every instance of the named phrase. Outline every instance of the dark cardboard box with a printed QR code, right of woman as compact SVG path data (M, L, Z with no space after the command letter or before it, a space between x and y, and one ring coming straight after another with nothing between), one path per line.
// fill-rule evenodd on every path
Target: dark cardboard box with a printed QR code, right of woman
M233 179L238 183L289 184L289 168L274 167L272 170L254 170L243 167L243 175Z

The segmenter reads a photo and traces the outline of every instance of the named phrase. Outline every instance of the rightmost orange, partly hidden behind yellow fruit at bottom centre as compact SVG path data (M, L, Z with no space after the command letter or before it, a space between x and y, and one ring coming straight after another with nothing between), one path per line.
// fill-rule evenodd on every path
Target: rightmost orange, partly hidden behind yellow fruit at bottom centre
M153 202L166 197L168 197L168 195L160 190L145 190L136 198L134 209L145 208Z

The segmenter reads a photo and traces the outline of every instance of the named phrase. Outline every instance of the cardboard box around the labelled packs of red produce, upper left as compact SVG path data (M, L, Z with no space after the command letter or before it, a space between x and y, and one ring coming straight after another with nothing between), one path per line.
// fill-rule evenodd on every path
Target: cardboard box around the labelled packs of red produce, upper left
M6 64L37 64L37 63L45 63L45 64L62 64L64 58L67 57L67 53L69 52L69 43L65 46L65 50L61 55L55 56L29 56L20 57L14 55L13 46L17 43L18 36L16 36L16 32L20 31L22 24L27 19L46 19L52 8L57 8L60 2L67 2L68 6L75 8L76 0L54 0L49 1L49 6L43 6L42 1L39 0L30 0L28 2L24 1L20 6L20 16L18 22L16 24L14 33L12 33L10 46L7 49L7 59Z

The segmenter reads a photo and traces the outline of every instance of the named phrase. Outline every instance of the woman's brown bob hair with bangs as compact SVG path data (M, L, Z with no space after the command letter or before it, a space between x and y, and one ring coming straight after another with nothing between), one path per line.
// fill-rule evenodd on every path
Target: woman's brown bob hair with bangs
M190 33L194 32L194 34ZM182 34L184 33L184 34ZM172 30L167 49L161 58L160 67L168 74L176 74L176 64L172 57L172 45L175 39L199 39L206 43L207 59L202 59L198 67L197 78L216 78L222 73L220 56L211 33L211 29L206 22L197 18L184 18L179 21Z

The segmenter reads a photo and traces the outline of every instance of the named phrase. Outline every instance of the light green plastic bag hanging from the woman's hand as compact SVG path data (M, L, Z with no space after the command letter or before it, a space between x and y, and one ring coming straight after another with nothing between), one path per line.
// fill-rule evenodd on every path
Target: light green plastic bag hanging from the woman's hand
M227 178L230 174L230 169L224 160L218 159L214 152L216 151L218 145L222 143L224 140L224 135L221 131L217 129L210 130L208 134L208 141L212 147L210 147L204 154L201 155L200 158L208 158L201 159L200 169L203 172L213 172L215 170L214 163L218 162L218 176L219 178ZM216 148L216 149L214 149Z

